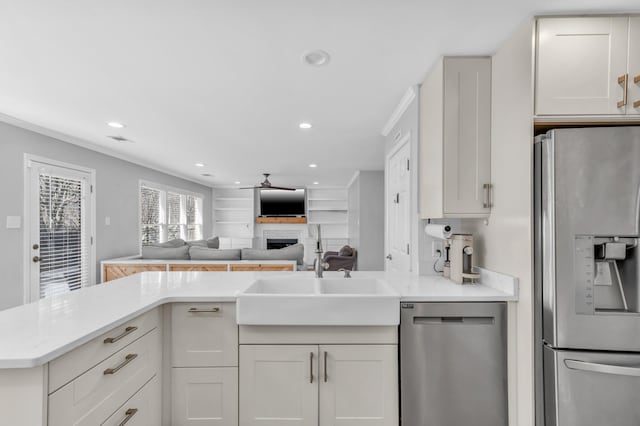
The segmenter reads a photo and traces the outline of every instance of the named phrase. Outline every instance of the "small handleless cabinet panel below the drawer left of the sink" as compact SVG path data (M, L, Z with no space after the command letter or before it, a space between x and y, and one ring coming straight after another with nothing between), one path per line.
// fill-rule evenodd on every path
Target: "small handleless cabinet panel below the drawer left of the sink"
M237 426L238 368L173 368L172 426Z

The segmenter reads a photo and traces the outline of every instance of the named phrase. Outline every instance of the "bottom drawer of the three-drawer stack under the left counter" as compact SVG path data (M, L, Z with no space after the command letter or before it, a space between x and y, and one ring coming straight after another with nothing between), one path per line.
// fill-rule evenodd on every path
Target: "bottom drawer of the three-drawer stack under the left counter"
M160 379L155 376L113 413L102 426L152 426L162 420Z

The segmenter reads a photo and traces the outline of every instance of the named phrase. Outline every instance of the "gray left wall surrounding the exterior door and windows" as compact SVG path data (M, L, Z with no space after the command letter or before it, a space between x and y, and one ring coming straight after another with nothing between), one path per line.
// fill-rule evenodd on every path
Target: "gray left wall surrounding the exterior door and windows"
M139 252L138 185L152 181L204 196L204 235L211 233L211 188L29 130L0 123L0 309L23 302L24 154L96 171L96 261ZM20 229L6 229L7 216L21 216ZM105 226L105 217L111 226ZM96 265L99 282L100 268Z

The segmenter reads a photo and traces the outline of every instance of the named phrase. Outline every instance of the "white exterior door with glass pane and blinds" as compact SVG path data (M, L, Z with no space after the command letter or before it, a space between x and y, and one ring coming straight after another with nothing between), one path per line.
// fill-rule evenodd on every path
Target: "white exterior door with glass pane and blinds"
M92 171L30 160L31 301L90 285Z

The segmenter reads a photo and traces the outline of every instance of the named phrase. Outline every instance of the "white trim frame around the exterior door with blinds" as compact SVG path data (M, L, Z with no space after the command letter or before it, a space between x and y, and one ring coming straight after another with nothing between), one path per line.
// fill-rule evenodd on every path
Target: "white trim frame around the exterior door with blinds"
M38 155L32 155L24 153L23 156L23 277L22 277L22 285L23 285L23 302L30 303L37 299L34 299L35 295L33 294L34 289L31 288L31 204L32 204L32 195L31 194L31 168L33 167L33 163L39 163L45 166L54 166L61 167L73 171L77 171L80 173L86 173L89 175L89 185L91 185L89 189L89 208L91 212L89 214L89 218L91 220L91 227L89 229L90 235L89 237L92 240L91 249L89 256L91 257L88 261L89 264L89 282L88 286L92 286L96 284L96 171L95 169L90 169L87 167L78 166L71 163L65 163L63 161L52 160L50 158L41 157ZM39 289L38 289L39 290Z

